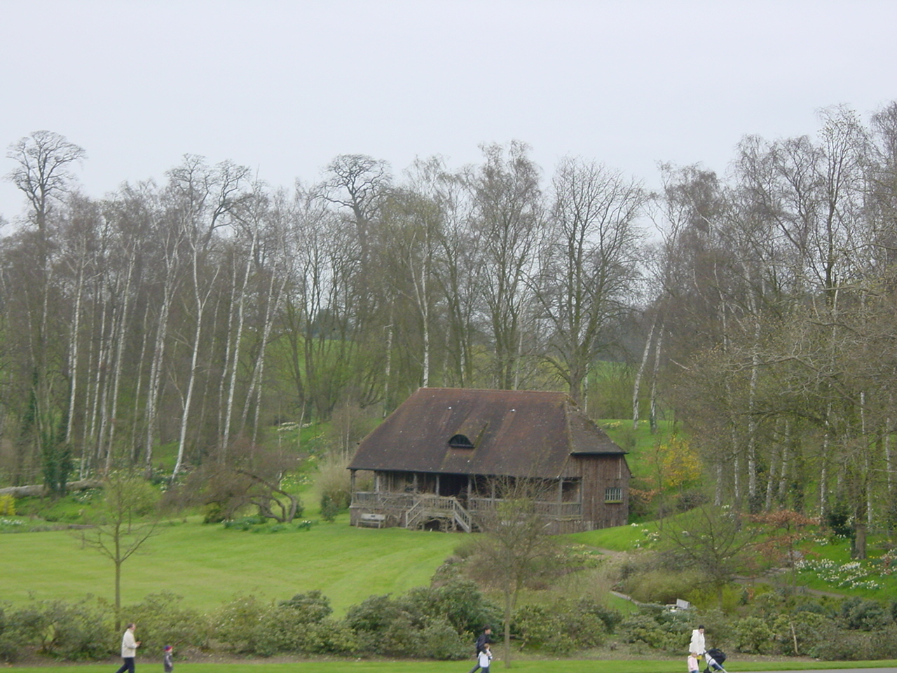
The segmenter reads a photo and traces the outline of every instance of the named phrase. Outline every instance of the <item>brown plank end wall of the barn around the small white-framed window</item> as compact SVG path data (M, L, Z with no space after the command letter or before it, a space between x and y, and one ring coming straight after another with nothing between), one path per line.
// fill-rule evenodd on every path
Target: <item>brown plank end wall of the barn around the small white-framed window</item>
M582 479L582 518L594 528L623 526L629 519L629 466L619 456L576 456ZM619 488L621 501L605 503L605 489Z

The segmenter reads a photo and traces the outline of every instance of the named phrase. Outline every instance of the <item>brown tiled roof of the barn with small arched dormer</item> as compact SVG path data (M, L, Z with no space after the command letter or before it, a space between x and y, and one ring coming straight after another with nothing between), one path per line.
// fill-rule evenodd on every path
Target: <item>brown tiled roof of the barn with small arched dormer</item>
M462 434L473 449L448 441ZM624 451L566 393L422 388L361 440L350 469L568 476L571 455Z

